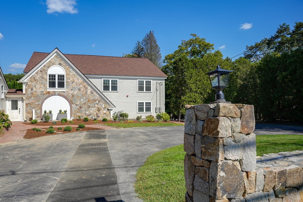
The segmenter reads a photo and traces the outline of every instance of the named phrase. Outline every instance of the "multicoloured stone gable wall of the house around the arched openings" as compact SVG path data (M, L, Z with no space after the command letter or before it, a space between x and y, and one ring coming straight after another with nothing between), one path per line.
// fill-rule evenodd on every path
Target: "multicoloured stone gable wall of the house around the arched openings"
M65 69L66 91L47 90L47 72L52 65L60 65ZM37 119L40 120L42 116L40 114L42 101L47 96L55 95L56 93L65 95L71 101L71 118L77 118L79 114L88 118L110 118L108 104L58 55L55 55L28 80L25 88L25 120L32 119L33 109L35 109ZM70 109L67 110L67 113L70 113Z

